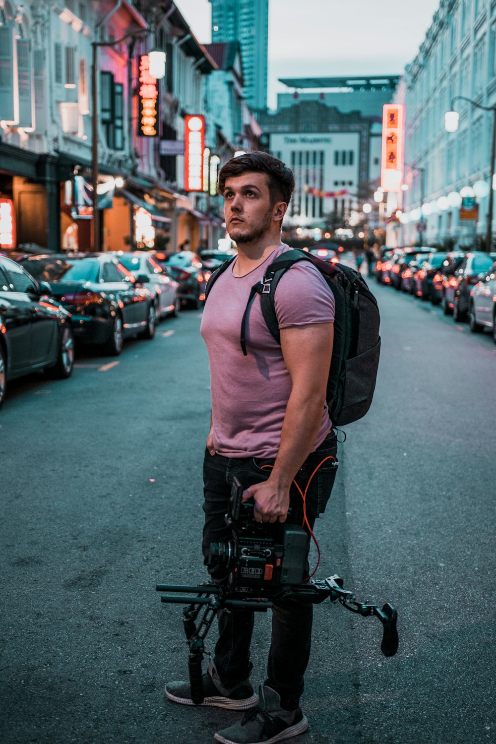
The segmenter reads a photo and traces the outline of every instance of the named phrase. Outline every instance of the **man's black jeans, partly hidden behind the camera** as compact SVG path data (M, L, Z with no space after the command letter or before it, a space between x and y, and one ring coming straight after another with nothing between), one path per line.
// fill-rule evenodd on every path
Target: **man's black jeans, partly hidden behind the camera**
M309 455L297 472L295 481L303 493L310 475L318 464L328 455L336 458L336 454L336 437L333 432L329 432L321 446ZM210 455L205 450L203 466L205 522L202 542L205 565L208 566L210 542L225 542L231 538L231 529L226 525L224 517L228 510L234 476L239 478L243 487L248 488L267 480L271 470L262 469L262 466L270 464L274 464L273 459L225 458L222 455ZM315 473L307 491L306 516L312 530L315 518L326 508L336 470L333 461L327 460ZM290 506L292 508L290 521L301 525L302 499L294 485L290 490ZM307 555L308 550L309 544ZM212 580L216 582L224 581L227 576L223 566L208 566L208 571ZM272 637L265 684L279 693L281 705L288 711L297 708L300 695L303 693L303 676L310 655L312 617L312 603L288 600L277 603L272 609ZM232 610L229 614L219 612L218 623L219 640L215 647L214 663L222 684L229 689L248 679L251 673L250 644L254 612L248 610Z

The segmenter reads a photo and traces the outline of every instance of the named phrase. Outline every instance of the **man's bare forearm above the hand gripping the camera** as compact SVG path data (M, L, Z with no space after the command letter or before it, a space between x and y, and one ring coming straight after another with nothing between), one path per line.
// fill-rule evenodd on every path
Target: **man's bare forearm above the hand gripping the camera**
M312 452L322 423L325 400L308 390L295 390L289 396L279 452L271 472L271 481L287 487Z

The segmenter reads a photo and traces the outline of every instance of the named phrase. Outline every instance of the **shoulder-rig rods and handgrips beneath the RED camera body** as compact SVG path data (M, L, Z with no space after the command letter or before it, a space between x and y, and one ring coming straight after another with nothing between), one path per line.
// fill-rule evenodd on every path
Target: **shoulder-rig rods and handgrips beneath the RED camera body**
M393 656L398 650L398 631L396 620L398 613L390 603L382 609L373 604L363 604L355 600L351 591L343 589L343 580L331 576L323 580L309 580L297 586L275 586L263 591L236 591L228 586L204 583L197 586L176 586L158 584L157 591L166 591L161 601L165 603L187 604L184 608L184 632L190 647L188 667L190 672L191 697L195 705L204 700L202 684L202 659L204 655L204 638L220 610L245 609L254 612L266 612L281 601L294 600L319 604L329 598L339 602L350 612L362 617L373 615L382 623L381 652L384 656ZM191 595L195 596L191 596ZM201 618L200 610L204 607Z

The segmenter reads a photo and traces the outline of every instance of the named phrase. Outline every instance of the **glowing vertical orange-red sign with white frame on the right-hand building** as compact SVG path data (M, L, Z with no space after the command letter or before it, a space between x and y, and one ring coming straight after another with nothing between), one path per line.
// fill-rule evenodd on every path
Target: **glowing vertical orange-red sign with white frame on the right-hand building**
M381 187L384 191L399 191L402 187L404 138L405 106L386 103L382 109Z

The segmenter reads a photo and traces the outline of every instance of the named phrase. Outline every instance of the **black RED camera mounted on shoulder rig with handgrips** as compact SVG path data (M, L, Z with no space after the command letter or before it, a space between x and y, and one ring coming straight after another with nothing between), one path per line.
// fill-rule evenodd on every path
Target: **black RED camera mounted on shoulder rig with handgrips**
M308 541L305 530L286 523L260 525L254 522L253 504L242 504L242 492L242 485L234 478L225 518L233 539L210 545L209 563L229 569L227 580L196 586L158 584L156 587L157 591L170 592L162 595L162 602L188 605L183 610L183 622L190 649L188 668L193 704L201 705L204 701L204 639L221 610L267 612L274 604L287 600L320 604L329 598L356 615L378 618L383 626L381 652L384 656L395 655L398 650L396 609L388 602L382 609L358 602L351 591L344 589L343 580L338 576L303 581ZM202 608L204 612L199 617Z

